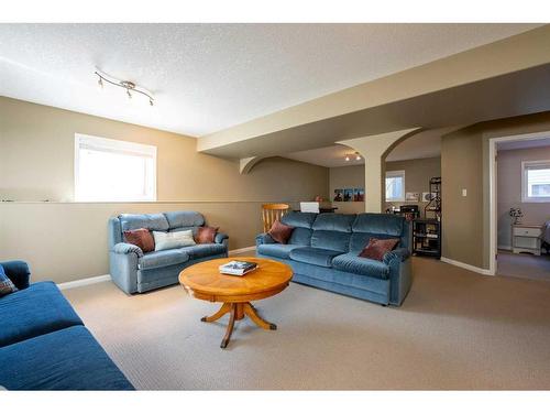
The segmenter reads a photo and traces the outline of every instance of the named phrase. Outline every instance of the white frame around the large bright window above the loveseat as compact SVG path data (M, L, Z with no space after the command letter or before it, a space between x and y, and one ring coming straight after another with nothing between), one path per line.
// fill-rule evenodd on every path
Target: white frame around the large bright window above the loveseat
M82 199L79 195L79 178L80 178L80 148L82 144L89 144L91 148L105 149L112 152L130 152L133 154L151 156L152 157L152 170L153 180L151 182L152 193L143 197L129 198L129 199ZM74 200L76 203L154 203L157 202L156 194L156 181L157 181L157 169L156 169L156 153L157 149L154 145L121 141L117 139L108 139L101 137L95 137L85 133L75 133L75 157L74 157L74 174L75 174L75 188L74 188Z

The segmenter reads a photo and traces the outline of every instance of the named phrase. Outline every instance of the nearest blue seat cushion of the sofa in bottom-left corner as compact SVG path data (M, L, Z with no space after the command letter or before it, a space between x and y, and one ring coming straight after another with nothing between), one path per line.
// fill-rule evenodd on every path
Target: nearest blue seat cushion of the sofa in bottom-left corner
M0 360L8 390L134 390L82 326L2 347Z

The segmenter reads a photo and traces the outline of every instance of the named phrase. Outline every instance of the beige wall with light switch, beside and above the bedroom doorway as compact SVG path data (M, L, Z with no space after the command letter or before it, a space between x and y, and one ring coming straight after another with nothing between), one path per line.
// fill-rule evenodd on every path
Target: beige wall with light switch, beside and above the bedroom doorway
M550 111L482 122L442 137L443 257L490 268L488 141L542 131L550 131Z

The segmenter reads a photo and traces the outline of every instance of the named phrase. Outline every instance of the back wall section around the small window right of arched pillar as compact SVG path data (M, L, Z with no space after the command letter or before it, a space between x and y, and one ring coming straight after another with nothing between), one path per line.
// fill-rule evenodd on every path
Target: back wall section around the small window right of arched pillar
M420 193L420 199L424 192L430 192L430 178L441 176L441 157L426 157L418 160L386 162L386 172L388 171L405 171L405 192ZM392 205L418 205L420 214L424 217L424 208L428 203L386 203L386 208Z

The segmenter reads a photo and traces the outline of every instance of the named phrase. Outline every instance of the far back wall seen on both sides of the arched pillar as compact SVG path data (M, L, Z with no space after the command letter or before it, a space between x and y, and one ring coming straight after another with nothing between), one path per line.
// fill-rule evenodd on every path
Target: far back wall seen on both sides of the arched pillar
M418 160L386 162L386 171L405 171L405 192L429 192L429 180L433 176L441 176L441 159L427 157ZM365 187L365 166L341 166L330 169L330 194L333 198L334 189L339 188L364 188ZM369 196L369 194L366 194ZM424 207L427 203L385 203L385 208L392 205L417 204L424 214ZM338 207L339 213L359 214L364 213L364 203L332 203ZM385 209L384 208L384 209Z

